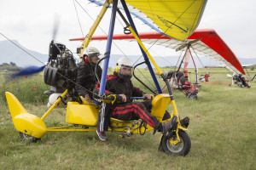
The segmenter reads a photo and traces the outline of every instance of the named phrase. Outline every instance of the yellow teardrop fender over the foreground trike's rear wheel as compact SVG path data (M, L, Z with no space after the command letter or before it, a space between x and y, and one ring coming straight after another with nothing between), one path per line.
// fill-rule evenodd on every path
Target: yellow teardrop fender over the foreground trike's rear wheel
M46 133L46 126L43 120L28 113L14 94L5 92L5 96L16 130L38 139L43 138Z

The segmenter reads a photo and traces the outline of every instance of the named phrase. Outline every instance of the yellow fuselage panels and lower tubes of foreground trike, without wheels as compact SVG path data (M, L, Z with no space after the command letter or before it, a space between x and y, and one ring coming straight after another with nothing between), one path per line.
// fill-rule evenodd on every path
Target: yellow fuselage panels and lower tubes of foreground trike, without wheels
M66 94L67 90L61 94L61 97L63 98ZM6 98L15 128L21 133L26 133L41 139L47 131L96 131L99 105L88 103L83 98L81 98L81 104L73 101L67 102L66 122L69 123L70 126L65 127L46 127L44 123L44 118L49 115L50 111L52 111L58 103L61 102L61 98L57 99L55 104L52 105L41 118L28 113L20 104L20 101L15 98L14 94L6 92ZM163 122L162 118L166 112L167 106L172 102L174 101L171 100L169 94L158 94L152 100L151 114L156 116L160 122ZM175 103L172 103L172 105L175 105ZM172 116L173 115L177 115L176 109L174 109L174 114L172 113ZM145 133L153 129L153 127L148 126L145 122L142 123L141 120L127 122L111 118L110 121L112 130L120 132ZM78 126L84 126L86 128L67 128Z

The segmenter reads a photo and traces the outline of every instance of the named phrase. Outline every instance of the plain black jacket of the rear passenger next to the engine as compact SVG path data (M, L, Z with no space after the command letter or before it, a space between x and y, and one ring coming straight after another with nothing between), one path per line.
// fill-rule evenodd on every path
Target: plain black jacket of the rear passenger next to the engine
M95 75L95 68L96 68L95 64L84 63L84 61L82 61L79 64L77 84L75 88L80 96L84 97L85 94L89 94L90 98L92 98L93 89L95 88L95 85L98 82ZM101 79L102 68L99 65L96 68L96 73L98 78ZM80 87L79 85L82 86L83 88Z

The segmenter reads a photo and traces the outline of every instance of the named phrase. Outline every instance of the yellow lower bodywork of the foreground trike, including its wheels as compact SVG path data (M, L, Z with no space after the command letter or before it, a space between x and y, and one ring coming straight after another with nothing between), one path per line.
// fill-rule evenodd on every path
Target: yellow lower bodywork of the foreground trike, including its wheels
M61 94L61 98L65 98L67 90ZM49 115L56 105L61 102L61 98L55 101L55 104L46 111L44 116L41 118L32 115L24 109L20 104L19 100L15 98L14 94L6 92L6 98L9 104L9 110L15 124L15 128L20 133L21 139L30 140L31 142L37 142L38 139L42 139L46 132L67 132L67 131L96 131L96 122L99 112L99 105L94 103L88 103L81 97L83 104L79 102L67 102L67 114L66 122L70 126L65 127L46 127L44 118ZM107 99L105 99L106 101ZM108 99L111 101L111 99ZM108 101L106 101L108 102ZM152 111L151 114L156 116L160 122L166 112L167 106L174 101L171 100L169 94L158 94L152 100ZM172 112L171 116L177 115ZM172 118L172 117L171 117ZM169 121L170 119L166 120ZM130 137L133 133L146 133L153 130L153 127L148 126L147 123L142 120L135 120L130 122L124 122L118 119L111 118L111 130L119 131L120 137ZM81 127L81 128L68 128L68 127ZM161 136L160 138L160 149L164 150L168 154L185 156L190 150L190 139L189 135L185 133L187 129L181 127L179 119L177 119L177 128L173 131L171 138Z

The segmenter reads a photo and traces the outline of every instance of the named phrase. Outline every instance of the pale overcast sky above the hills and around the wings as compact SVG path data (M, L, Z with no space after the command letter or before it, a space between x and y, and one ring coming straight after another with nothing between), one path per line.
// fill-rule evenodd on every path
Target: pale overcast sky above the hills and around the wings
M78 0L93 20L101 10L87 0ZM213 28L224 42L233 50L237 58L256 58L256 1L255 0L208 0L207 7L198 28ZM90 16L76 3L83 34L86 35L93 24ZM42 54L48 54L49 42L52 39L55 19L59 19L59 30L55 37L57 42L66 44L75 51L80 42L69 42L73 37L82 37L79 20L73 0L0 0L0 32L10 39L15 39L26 48ZM101 28L108 33L110 10L104 16ZM138 31L150 31L147 26L135 20ZM104 35L97 29L95 35ZM114 33L122 33L123 28L116 21ZM6 40L0 35L0 41ZM115 42L126 55L141 54L137 43ZM90 46L99 48L102 54L106 42L91 42ZM122 54L113 44L112 54ZM153 55L166 56L170 49L156 46ZM171 52L170 52L171 53Z

